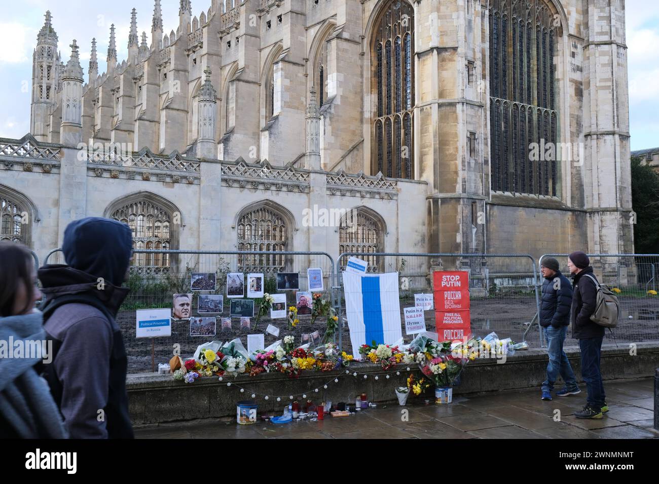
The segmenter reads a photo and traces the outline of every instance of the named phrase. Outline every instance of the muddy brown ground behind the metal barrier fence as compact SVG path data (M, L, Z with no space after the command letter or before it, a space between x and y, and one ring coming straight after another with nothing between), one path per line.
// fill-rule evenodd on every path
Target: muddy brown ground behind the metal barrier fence
M657 298L620 298L623 308L622 319L619 326L614 330L617 342L643 342L648 340L659 340L659 299ZM414 306L413 300L401 300L401 321L403 321L403 308ZM196 308L195 308L196 309ZM473 335L486 336L495 331L500 338L513 338L515 341L523 340L523 335L528 328L528 323L536 313L536 302L533 297L516 297L502 300L501 298L474 299L471 300L471 331ZM196 311L193 316L198 315ZM224 316L229 315L229 304L225 298ZM631 316L631 318L630 318ZM245 348L247 347L247 335L251 333L265 333L265 344L275 342L283 336L293 335L296 342L301 342L303 333L318 331L324 335L325 325L319 318L314 325L311 324L310 316L301 316L300 323L295 329L289 331L286 319L271 320L270 317L262 317L259 322L258 331L242 330L240 319L232 318L231 331L221 331L221 320L217 318L215 336L190 336L189 321L173 321L172 335L168 338L136 339L135 338L135 311L121 311L117 316L117 322L123 332L124 341L129 355L129 373L140 373L151 371L152 343L155 345L156 366L158 363L168 362L173 354L174 344L181 345L181 355L184 358L192 356L192 352L198 345L210 341L220 340L222 342L241 338ZM425 311L426 329L435 331L434 311ZM254 320L252 319L252 327ZM266 327L272 324L279 328L279 336L275 338L266 333ZM405 342L410 342L413 336L405 336L405 324L402 323ZM569 338L570 336L568 336ZM530 329L525 340L531 347L538 347L540 336L537 325ZM350 336L345 328L343 332L343 349L351 352ZM612 335L607 331L605 342L614 342Z

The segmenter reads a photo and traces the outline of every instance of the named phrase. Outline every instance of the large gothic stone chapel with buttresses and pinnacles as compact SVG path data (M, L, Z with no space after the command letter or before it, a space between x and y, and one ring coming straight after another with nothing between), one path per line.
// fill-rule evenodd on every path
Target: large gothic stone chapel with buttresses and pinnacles
M99 215L146 249L633 252L623 0L175 4L111 26L102 73L45 13L1 238L43 260Z

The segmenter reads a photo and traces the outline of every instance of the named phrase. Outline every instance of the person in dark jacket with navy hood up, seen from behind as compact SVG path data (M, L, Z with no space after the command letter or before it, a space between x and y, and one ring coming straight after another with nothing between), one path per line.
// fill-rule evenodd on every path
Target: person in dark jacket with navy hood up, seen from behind
M44 329L54 353L45 377L72 439L133 437L127 356L114 319L129 291L121 284L131 246L127 225L80 219L64 232L67 265L39 269Z

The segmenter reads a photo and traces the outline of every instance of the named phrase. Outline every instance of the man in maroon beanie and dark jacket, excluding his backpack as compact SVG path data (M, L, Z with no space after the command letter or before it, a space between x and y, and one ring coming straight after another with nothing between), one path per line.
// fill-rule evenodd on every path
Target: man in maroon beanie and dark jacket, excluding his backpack
M581 352L581 376L586 382L586 406L575 412L577 418L602 418L608 412L604 398L604 384L600 371L600 354L604 327L590 321L597 304L598 282L590 267L588 255L577 251L570 254L567 267L572 275L574 297L572 299L572 336L579 340Z

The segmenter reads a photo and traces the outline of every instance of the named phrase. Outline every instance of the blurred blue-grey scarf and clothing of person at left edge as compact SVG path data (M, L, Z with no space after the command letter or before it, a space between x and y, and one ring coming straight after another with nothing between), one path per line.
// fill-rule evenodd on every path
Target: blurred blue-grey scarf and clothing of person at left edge
M12 341L13 350L17 342L27 350L45 338L40 311L0 318L0 341L8 345ZM35 369L42 361L38 356L45 356L11 356L0 355L0 439L65 439L62 416L48 384Z

